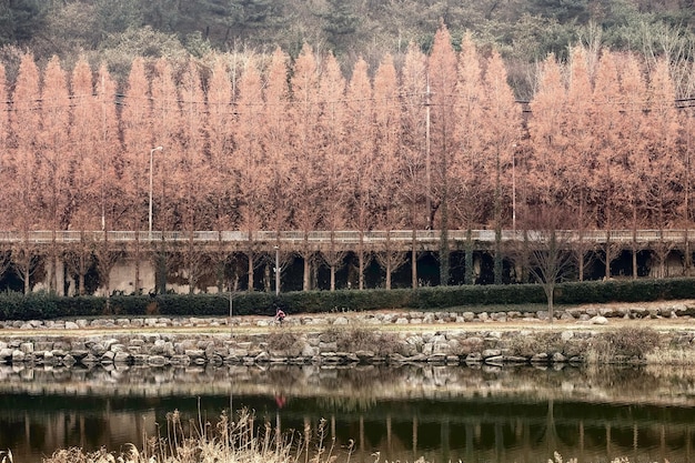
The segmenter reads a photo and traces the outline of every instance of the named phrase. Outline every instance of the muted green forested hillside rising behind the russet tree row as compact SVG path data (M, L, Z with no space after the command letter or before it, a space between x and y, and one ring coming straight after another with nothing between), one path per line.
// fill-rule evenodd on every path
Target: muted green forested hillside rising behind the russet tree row
M577 42L692 60L694 18L693 0L11 0L0 3L0 57L10 80L30 49L68 68L85 54L122 81L135 56L280 47L296 58L306 42L331 50L346 73L359 58L372 70L386 53L397 61L410 42L429 52L443 21L456 47L466 31L494 46L528 99L534 63L550 52L566 58Z

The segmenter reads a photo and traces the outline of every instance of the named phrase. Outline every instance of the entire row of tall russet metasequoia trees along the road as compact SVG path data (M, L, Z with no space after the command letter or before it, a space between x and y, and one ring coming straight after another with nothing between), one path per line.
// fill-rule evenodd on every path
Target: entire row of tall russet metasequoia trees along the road
M570 54L540 64L526 103L496 51L471 37L454 49L445 27L429 56L411 46L377 69L359 60L349 78L309 46L293 61L276 50L212 68L135 59L122 89L105 67L40 70L26 54L13 82L0 67L0 229L147 230L150 203L155 230L250 239L500 234L542 227L547 210L578 230L692 227L693 99L676 98L676 70L582 46ZM440 258L446 281L445 245Z

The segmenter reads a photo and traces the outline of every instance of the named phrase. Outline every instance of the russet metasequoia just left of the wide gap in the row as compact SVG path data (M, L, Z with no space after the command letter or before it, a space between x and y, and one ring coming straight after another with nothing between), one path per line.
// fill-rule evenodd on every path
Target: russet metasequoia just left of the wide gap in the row
M520 140L521 108L514 101L514 92L506 79L506 70L502 57L495 50L487 59L484 78L484 93L481 100L483 107L482 122L485 128L482 155L490 167L494 163L494 170L487 169L487 178L494 178L494 220L495 220L495 283L502 283L502 177L512 178L512 163L514 162L514 149ZM506 168L506 169L504 169ZM504 169L504 172L503 172ZM512 198L512 188L508 181L507 198ZM510 201L511 203L511 201Z

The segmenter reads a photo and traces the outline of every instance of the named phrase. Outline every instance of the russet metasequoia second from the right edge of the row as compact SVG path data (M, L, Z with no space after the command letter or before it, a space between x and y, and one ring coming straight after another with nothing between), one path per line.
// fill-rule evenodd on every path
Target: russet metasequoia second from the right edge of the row
M644 155L649 167L645 178L645 195L652 223L659 231L678 220L674 212L682 198L676 190L681 189L685 173L684 160L677 150L679 127L674 100L668 63L659 60L652 69L647 84L647 123L643 131L646 143ZM672 243L659 236L653 248L661 276L666 276L665 263Z

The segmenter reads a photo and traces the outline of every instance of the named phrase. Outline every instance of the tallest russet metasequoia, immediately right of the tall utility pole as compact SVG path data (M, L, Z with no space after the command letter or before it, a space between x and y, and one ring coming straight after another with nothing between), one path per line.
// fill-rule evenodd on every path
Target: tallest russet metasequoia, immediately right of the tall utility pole
M451 34L444 24L434 36L432 53L427 60L429 102L431 112L429 122L430 152L427 164L431 165L431 183L427 195L431 199L432 212L439 210L440 220L440 284L447 285L451 278L449 250L449 203L452 153L457 150L454 128L454 94L456 91L456 53L451 43ZM434 225L433 219L431 219Z

